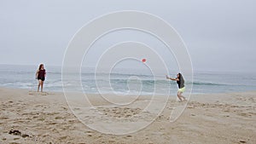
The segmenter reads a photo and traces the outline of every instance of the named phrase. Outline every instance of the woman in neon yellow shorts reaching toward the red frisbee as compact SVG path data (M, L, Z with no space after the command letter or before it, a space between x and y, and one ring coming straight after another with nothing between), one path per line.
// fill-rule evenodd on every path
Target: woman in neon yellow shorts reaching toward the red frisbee
M186 101L186 98L182 95L185 91L185 81L183 79L183 75L181 73L177 73L177 78L169 78L168 76L166 76L166 78L177 82L177 98L180 101Z

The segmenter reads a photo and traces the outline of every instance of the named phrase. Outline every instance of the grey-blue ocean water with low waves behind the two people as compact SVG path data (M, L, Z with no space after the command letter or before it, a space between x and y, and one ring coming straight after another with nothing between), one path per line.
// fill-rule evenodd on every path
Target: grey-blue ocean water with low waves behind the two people
M63 91L61 66L46 66L44 91ZM37 90L35 72L38 66L0 65L0 87ZM176 76L176 72L169 74ZM75 82L74 82L75 83ZM83 89L88 94L176 95L176 82L165 75L153 76L139 70L116 70L111 73L82 68L81 84L66 82L69 91ZM229 93L256 90L256 74L248 72L194 72L194 80L185 79L192 94ZM190 92L187 90L187 93Z

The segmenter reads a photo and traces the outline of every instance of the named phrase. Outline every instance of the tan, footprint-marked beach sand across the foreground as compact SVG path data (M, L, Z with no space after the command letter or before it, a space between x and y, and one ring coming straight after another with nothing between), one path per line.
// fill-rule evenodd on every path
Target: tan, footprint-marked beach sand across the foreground
M143 130L113 135L92 130L81 123L71 111L81 109L70 109L63 93L0 88L0 143L256 143L256 91L191 95L182 115L172 123L170 113L179 103L175 102L175 96L171 97L164 111ZM130 118L138 113L143 114L132 120L147 121L155 117L154 113L142 109L150 96L138 98L131 107L113 107L100 95L89 95L89 99L108 118ZM77 102L79 107L80 101ZM88 124L96 126L109 121L96 116L93 109L87 110L85 113L89 115L84 116L84 120ZM131 121L125 124L129 123Z

